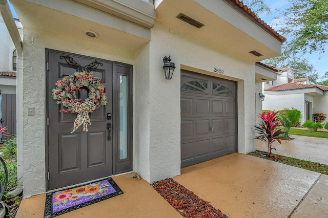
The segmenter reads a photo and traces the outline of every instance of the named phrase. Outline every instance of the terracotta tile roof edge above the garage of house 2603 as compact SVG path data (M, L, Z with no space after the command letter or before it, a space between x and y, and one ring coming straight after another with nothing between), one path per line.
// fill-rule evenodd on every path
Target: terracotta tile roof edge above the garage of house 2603
M262 27L264 30L271 33L273 36L275 36L278 40L281 42L285 42L287 39L286 37L280 35L275 30L272 29L267 23L265 23L261 18L259 18L248 6L244 5L239 0L226 0L228 3L232 3L235 6L237 6L239 9L241 9L245 14L249 15L253 21L255 21L260 27ZM254 23L255 23L254 22Z

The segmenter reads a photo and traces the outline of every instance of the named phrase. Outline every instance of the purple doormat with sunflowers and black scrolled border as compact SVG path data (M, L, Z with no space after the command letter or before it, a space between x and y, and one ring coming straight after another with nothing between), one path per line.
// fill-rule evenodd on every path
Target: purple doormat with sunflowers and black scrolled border
M58 216L122 193L112 178L47 193L44 217Z

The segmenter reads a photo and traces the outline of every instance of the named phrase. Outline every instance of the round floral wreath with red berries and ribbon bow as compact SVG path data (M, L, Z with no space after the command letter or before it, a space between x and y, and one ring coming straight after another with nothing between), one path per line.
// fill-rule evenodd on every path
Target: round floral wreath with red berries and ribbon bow
M83 71L65 76L55 85L56 88L52 90L52 98L58 100L57 104L67 107L67 110L63 108L63 110L59 110L59 113L77 114L71 133L82 124L83 130L88 132L88 124L91 125L89 113L107 104L103 82L98 77L93 77L91 72ZM76 91L83 92L85 88L89 90L88 98L82 102L80 98L76 97Z

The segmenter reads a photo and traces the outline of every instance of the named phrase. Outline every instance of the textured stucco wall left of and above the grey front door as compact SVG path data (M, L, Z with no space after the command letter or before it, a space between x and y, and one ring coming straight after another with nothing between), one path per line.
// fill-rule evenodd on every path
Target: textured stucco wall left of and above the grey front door
M86 36L87 37L87 36ZM89 40L89 41L88 41ZM58 32L24 29L23 163L24 197L46 191L45 183L45 48L134 64L134 54ZM18 79L18 78L17 78ZM38 85L35 85L38 84ZM27 116L28 107L35 115ZM17 151L19 152L19 151Z

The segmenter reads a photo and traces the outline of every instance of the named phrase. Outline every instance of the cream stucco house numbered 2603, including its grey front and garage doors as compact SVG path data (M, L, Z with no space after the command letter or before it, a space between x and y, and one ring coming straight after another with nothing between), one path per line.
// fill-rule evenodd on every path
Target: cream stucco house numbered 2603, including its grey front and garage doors
M256 62L279 56L286 39L238 0L11 3L24 27L17 66L24 198L132 170L157 181L255 150L261 83L276 78ZM169 55L171 80L162 69ZM93 61L103 64L92 72L108 103L91 113L89 132L71 133L76 115L58 113L52 89Z

